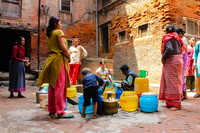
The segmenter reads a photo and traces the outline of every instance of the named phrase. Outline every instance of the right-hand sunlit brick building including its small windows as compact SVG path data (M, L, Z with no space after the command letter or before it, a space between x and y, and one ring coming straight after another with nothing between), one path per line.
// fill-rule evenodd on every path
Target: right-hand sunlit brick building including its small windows
M200 39L199 0L102 0L99 11L99 54L113 59L115 77L119 67L149 72L150 83L159 83L161 38L169 24Z

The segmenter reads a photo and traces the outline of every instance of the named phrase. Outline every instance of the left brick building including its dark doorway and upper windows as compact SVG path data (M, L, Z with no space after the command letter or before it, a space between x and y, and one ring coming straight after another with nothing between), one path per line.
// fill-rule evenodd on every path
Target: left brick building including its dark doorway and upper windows
M51 16L60 18L69 45L79 38L88 57L95 57L95 10L93 0L0 0L0 71L8 71L11 48L19 35L26 39L26 56L32 62L29 69L42 68L48 55L45 30Z

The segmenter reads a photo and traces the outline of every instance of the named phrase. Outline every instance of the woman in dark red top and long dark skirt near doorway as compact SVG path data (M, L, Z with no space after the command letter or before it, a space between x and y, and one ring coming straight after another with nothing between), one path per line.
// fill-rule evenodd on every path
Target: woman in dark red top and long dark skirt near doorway
M19 36L17 45L12 48L12 56L9 64L9 98L15 98L14 92L18 92L18 98L25 98L21 93L26 90L25 87L25 38Z

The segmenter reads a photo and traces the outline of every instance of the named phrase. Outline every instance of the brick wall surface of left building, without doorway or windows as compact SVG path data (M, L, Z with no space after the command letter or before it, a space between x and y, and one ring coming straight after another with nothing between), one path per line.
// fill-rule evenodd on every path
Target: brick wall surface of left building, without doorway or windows
M0 4L2 1L0 1ZM95 32L95 1L74 0L71 13L60 12L60 0L42 0L40 17L40 69L48 55L47 37L45 29L51 16L57 16L62 23L62 30L66 39L79 38L82 45L88 50L88 57L96 55ZM49 8L48 13L45 9ZM22 14L19 18L1 17L0 27L16 30L31 31L31 69L38 66L38 1L23 0Z

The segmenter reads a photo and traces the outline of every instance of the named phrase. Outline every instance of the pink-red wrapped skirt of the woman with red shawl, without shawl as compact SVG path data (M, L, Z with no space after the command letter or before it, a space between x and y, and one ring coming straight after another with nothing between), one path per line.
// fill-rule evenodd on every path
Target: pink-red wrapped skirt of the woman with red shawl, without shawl
M178 100L182 94L182 55L171 55L162 69L160 100Z

